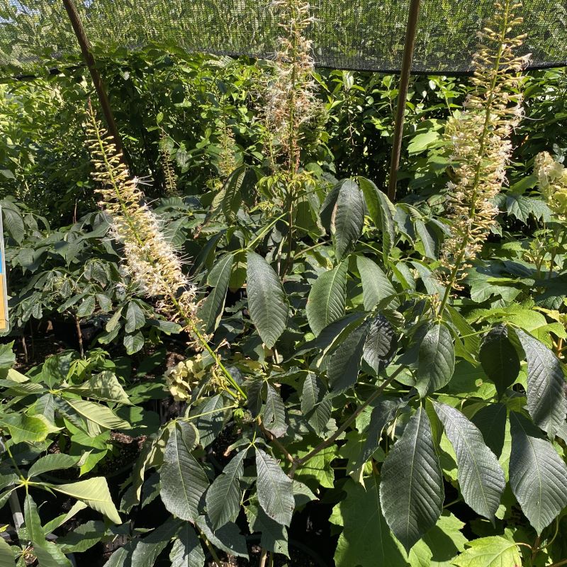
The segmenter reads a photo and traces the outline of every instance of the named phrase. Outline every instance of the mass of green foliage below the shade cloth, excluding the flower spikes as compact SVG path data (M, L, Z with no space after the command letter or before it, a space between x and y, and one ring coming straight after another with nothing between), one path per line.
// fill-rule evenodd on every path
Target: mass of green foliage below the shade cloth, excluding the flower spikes
M13 335L31 350L70 322L83 352L50 344L33 366L20 340L17 361L0 349L0 503L15 494L24 515L0 565L66 565L118 536L109 567L203 567L210 549L252 556L247 541L293 562L304 508L331 515L338 543L322 553L337 567L563 561L566 228L532 162L565 153L565 74L524 79L536 120L514 134L498 225L442 307L445 127L464 80L413 79L391 203L391 76L318 74L327 123L306 127L290 177L271 169L251 96L268 64L156 49L101 66L132 172L155 179L148 206L198 290L203 340L143 297L94 212L84 69L3 86ZM179 196L164 194L160 145ZM117 439L136 448L121 485ZM53 513L43 495L73 506Z

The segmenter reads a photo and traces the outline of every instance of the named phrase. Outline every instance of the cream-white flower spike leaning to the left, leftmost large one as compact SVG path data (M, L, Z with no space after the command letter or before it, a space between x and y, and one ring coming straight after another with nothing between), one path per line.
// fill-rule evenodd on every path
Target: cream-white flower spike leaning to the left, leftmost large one
M142 291L158 299L158 309L185 327L196 325L196 287L165 240L159 220L144 201L139 181L131 178L89 104L86 145L94 165L99 205L111 218L111 234L123 245L125 268Z

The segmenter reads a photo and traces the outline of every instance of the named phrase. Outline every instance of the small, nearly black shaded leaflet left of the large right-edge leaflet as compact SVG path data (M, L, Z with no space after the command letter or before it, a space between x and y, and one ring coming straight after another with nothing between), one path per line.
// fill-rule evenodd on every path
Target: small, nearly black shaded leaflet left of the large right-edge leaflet
M485 335L478 358L501 397L520 374L520 357L508 338L506 325L496 325Z

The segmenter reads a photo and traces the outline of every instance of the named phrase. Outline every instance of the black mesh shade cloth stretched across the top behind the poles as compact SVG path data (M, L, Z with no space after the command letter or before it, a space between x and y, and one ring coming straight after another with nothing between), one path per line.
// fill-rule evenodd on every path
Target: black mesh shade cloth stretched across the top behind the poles
M189 52L269 59L281 35L268 0L76 0L86 33L100 48L157 43ZM493 0L422 0L413 71L470 71L476 33ZM310 30L321 67L395 72L409 0L314 0ZM532 68L567 64L567 0L524 0L518 33ZM61 0L0 0L0 66L30 71L49 58L79 54Z

